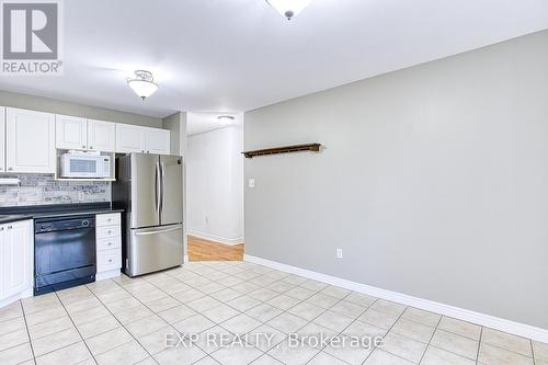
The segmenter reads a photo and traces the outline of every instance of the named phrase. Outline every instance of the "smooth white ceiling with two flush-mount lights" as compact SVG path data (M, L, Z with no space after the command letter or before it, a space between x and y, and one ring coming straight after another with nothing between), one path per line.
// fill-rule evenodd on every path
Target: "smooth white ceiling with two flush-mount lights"
M264 0L71 0L65 76L0 89L153 116L248 111L548 28L547 0L313 0L288 22ZM141 102L135 69L160 90Z

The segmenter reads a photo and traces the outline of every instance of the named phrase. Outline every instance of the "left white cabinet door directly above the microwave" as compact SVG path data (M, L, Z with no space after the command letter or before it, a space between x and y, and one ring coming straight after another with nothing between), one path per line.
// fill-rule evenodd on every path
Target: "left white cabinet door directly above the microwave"
M87 149L88 121L76 116L56 115L55 147L64 149Z

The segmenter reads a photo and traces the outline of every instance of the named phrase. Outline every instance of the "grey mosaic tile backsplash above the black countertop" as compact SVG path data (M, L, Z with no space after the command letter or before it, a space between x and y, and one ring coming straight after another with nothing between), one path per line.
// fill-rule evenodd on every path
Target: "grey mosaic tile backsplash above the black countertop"
M0 185L0 207L111 201L111 183L55 181L53 175L18 174L19 185Z

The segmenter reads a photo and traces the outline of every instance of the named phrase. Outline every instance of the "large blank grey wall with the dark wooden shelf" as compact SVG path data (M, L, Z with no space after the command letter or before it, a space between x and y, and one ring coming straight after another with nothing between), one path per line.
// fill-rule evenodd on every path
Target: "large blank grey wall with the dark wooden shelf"
M246 253L548 329L547 44L247 113L246 149L326 149L246 160Z

